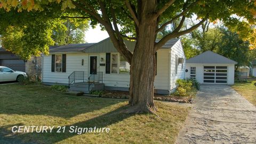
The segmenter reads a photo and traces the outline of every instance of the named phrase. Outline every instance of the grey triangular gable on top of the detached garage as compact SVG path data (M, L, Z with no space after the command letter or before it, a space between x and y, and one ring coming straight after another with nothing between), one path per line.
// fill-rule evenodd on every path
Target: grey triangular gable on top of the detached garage
M236 61L230 60L226 57L223 57L220 54L214 53L212 51L206 51L199 55L196 55L193 58L190 58L186 61L187 63L230 63L237 64Z

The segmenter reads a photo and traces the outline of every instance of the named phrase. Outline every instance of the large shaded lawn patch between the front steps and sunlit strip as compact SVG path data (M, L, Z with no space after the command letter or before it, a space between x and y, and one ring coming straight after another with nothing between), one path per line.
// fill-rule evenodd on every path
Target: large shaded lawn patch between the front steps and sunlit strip
M0 114L46 115L71 118L100 110L123 99L77 97L50 87L10 85L0 87Z

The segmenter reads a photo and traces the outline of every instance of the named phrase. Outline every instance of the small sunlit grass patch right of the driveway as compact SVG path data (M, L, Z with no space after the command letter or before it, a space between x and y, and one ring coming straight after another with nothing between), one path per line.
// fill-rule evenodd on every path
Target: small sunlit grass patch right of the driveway
M256 106L256 86L253 85L254 83L256 83L256 81L235 83L232 87L245 99L247 99L254 106Z

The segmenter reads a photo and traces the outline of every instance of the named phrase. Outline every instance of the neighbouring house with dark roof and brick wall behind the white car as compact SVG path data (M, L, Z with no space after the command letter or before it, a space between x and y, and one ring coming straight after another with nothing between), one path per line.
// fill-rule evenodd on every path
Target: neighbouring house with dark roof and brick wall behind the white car
M22 60L9 51L6 51L3 47L0 47L0 66L9 67L16 71L26 72L29 76L33 76L37 73L40 74L41 69L41 57L31 57L30 60Z

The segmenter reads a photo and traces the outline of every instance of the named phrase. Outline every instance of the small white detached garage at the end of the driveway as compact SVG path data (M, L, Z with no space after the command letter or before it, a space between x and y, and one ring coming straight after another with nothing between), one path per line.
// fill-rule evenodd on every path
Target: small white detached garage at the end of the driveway
M186 61L186 78L199 83L234 84L237 62L212 51L206 51Z

